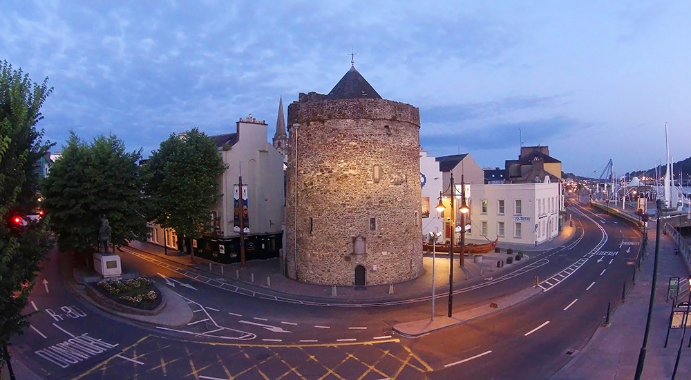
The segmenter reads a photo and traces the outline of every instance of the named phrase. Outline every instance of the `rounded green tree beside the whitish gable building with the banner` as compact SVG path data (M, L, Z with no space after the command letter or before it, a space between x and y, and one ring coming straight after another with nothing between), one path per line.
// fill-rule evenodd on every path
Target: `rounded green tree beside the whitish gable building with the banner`
M151 220L172 228L178 237L197 239L210 231L209 210L222 195L218 180L226 168L216 143L196 128L171 134L152 152L147 166Z

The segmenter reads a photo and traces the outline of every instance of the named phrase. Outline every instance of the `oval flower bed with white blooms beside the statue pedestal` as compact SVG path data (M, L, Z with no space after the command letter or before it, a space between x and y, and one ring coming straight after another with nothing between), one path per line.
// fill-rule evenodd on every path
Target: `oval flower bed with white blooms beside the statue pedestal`
M131 308L153 310L162 301L161 293L153 282L143 277L130 280L103 280L97 282L94 288L108 299Z

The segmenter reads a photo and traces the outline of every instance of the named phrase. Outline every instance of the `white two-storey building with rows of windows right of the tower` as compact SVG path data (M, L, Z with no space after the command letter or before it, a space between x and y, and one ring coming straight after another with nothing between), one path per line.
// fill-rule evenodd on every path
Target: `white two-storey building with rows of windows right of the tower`
M468 195L468 194L466 194ZM466 239L484 243L539 245L559 234L560 183L471 185L471 230Z

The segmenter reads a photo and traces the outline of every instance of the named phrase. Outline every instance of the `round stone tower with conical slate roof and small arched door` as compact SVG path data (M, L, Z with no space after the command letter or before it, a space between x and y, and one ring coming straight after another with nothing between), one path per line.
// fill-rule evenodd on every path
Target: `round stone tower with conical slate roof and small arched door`
M419 110L381 99L354 66L288 106L285 264L307 283L422 274Z

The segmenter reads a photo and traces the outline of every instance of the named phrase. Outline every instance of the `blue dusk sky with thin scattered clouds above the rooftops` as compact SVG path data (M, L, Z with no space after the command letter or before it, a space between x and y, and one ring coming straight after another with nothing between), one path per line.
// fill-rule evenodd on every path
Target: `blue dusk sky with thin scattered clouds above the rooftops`
M144 157L172 132L272 137L282 95L355 66L420 109L429 155L483 167L547 145L597 177L691 156L690 1L3 1L0 59L49 77L39 128L112 132ZM520 134L519 134L520 129Z

